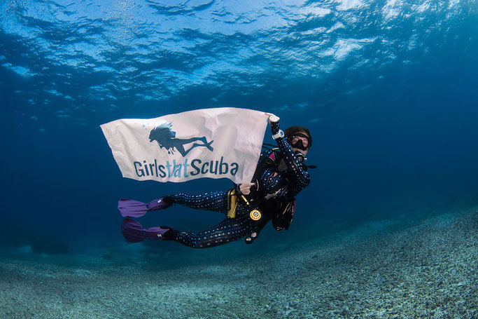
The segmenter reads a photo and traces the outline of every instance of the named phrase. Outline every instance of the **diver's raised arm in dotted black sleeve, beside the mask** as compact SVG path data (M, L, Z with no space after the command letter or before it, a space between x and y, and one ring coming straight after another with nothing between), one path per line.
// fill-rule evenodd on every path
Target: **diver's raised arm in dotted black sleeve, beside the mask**
M279 133L279 118L277 121L269 121L271 124L272 135ZM297 156L295 156L292 147L287 142L286 137L277 137L277 145L281 149L281 155L283 160L286 162L288 169L290 170L290 175L292 175L295 184L304 189L310 183L310 175L307 173L297 161Z

